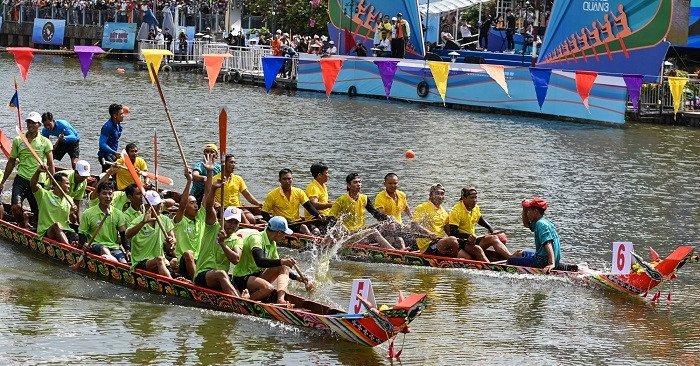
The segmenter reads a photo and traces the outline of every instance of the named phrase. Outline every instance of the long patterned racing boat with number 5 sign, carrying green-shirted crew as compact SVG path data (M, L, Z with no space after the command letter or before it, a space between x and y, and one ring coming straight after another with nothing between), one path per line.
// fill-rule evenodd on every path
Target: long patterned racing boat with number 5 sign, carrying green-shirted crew
M5 212L10 212L10 206L7 204L5 204ZM0 220L0 237L70 265L76 264L82 254L82 250L50 239L39 240L36 233L5 220ZM389 309L366 308L367 311L364 314L350 315L343 310L287 294L285 299L294 305L293 308L287 308L242 299L152 272L143 270L132 272L126 264L107 260L91 253L85 255L80 270L92 272L106 280L134 289L192 300L201 307L319 329L337 335L339 338L371 347L393 340L399 333L409 332L409 323L426 307L425 294L413 294Z

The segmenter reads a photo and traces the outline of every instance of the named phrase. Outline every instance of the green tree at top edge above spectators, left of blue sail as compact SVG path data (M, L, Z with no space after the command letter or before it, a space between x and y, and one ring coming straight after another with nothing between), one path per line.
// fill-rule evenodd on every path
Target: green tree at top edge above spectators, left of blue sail
M282 29L283 32L291 30L293 34L302 35L328 34L326 27L328 1L326 0L320 1L315 7L309 0L248 0L245 11L247 14L264 16L270 27L273 26L274 20L276 29ZM313 27L311 20L315 21Z

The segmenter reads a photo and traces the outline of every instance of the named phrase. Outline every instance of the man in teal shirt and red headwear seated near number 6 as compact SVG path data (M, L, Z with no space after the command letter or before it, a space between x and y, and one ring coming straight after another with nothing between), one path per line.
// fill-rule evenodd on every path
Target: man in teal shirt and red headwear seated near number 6
M549 273L559 266L561 245L554 223L544 217L547 201L535 197L531 200L523 199L522 205L523 225L535 233L535 251L523 251L521 257L509 258L508 264L542 268L544 273Z

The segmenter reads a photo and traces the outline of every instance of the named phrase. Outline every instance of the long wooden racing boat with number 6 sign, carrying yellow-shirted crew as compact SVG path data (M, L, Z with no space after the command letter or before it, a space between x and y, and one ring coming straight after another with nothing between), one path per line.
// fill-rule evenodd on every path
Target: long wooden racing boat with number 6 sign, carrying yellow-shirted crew
M262 230L262 227L260 226L245 224L241 225ZM293 234L286 236L285 240L277 244L278 246L293 249L310 249L314 245L317 245L321 240L322 238L319 237ZM676 278L676 271L688 261L696 258L693 256L694 249L695 247L693 246L679 246L665 259L660 260L653 265L649 265L648 268L646 268L647 266L642 265L644 270L631 271L629 274L612 274L578 265L568 265L565 268L566 270L553 270L546 274L541 268L481 262L462 258L442 257L419 252L385 249L374 245L357 243L343 246L339 250L338 254L342 259L360 262L392 263L435 268L464 268L481 271L506 272L512 274L560 276L569 278L578 283L595 284L630 295L646 296L648 293L651 293L653 289L659 287L664 282Z

